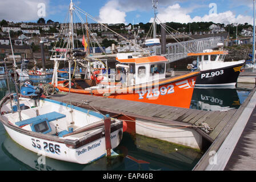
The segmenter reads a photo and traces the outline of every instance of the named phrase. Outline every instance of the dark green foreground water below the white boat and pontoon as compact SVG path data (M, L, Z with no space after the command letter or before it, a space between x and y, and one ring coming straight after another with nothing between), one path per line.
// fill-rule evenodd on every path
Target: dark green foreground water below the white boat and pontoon
M0 170L1 168L13 170L14 166L22 168L22 170L25 168L38 171L191 170L202 156L201 152L186 147L170 143L163 145L162 142L153 142L153 139L139 135L136 135L135 138L133 141L133 137L125 133L122 144L116 150L121 155L113 156L110 160L101 158L91 164L75 164L43 158L43 156L19 146L7 136L1 149L5 155L9 156L9 159L6 164L2 162Z

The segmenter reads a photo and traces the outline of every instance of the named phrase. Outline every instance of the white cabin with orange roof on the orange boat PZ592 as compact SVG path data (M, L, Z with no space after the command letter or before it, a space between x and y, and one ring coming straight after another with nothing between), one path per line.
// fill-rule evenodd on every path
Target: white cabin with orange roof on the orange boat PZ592
M134 56L133 53L118 53L117 67L122 71L122 82L127 86L143 84L165 78L167 59L163 56ZM120 73L121 73L120 71Z

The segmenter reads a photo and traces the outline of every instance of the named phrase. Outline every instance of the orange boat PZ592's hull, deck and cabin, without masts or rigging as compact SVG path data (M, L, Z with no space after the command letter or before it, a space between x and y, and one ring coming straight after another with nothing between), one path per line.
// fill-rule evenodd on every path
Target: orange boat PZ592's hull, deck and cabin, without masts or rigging
M143 57L118 53L116 60L120 64L116 65L115 82L106 82L105 76L92 74L90 77L93 79L72 79L71 86L67 81L55 82L54 86L63 92L69 92L70 89L71 93L190 107L196 77L200 72L166 77L167 59L163 56ZM102 81L97 84L99 80Z

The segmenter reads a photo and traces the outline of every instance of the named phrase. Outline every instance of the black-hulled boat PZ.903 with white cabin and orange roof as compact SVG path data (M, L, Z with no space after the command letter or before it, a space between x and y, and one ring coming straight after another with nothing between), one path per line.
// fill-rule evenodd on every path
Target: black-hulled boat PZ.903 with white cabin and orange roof
M199 53L188 53L197 56L197 60L187 65L187 69L195 71L198 68L201 75L197 76L195 86L234 86L245 60L224 61L227 51L207 49Z

